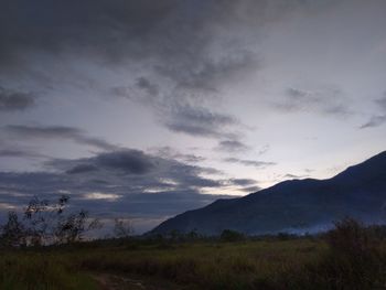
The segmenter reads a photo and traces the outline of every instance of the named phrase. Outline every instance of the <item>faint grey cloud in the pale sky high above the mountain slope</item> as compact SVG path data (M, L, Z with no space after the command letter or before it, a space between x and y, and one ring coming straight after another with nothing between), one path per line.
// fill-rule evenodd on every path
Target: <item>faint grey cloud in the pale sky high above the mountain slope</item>
M319 90L304 90L290 87L285 92L285 98L276 104L282 111L315 111L323 115L345 117L352 114L343 93L334 87Z

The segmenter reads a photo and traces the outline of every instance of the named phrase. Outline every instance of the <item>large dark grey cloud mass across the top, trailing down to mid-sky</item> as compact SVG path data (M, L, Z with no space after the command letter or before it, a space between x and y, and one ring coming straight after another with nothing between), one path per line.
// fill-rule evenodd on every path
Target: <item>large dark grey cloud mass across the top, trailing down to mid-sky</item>
M111 94L150 107L173 132L205 138L235 135L236 118L215 109L212 99L218 105L224 85L259 68L256 47L240 35L256 36L251 25L270 19L265 1L249 0L221 8L216 0L85 0L82 6L15 0L12 7L18 9L0 11L0 72L22 72L42 52L103 63L104 69L125 67L130 77ZM228 28L237 29L228 33Z

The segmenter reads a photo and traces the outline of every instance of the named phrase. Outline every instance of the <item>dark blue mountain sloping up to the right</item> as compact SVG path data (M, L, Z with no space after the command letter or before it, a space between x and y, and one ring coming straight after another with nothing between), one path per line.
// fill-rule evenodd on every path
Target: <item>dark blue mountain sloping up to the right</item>
M328 180L291 180L244 197L218 200L170 218L151 234L315 233L345 216L386 222L386 151Z

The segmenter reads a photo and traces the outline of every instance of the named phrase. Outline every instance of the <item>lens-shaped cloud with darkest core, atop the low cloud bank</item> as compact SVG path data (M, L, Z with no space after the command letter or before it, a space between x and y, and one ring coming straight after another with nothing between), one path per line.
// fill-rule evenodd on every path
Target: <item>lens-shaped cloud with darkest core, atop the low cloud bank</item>
M55 159L46 162L46 165L76 175L83 181L104 180L108 184L118 182L120 185L132 186L137 192L149 187L183 190L222 186L221 181L202 176L207 174L206 168L132 149L76 160Z

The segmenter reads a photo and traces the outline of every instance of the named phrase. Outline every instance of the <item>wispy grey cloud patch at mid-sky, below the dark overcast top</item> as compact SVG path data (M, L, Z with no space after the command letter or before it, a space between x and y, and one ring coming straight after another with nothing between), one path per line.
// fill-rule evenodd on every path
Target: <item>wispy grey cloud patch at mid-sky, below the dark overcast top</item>
M214 110L211 94L194 94L163 88L148 78L140 77L133 87L115 87L111 93L152 109L157 119L169 130L206 138L234 138L239 127L237 118ZM204 97L205 96L205 97Z

